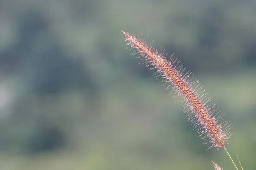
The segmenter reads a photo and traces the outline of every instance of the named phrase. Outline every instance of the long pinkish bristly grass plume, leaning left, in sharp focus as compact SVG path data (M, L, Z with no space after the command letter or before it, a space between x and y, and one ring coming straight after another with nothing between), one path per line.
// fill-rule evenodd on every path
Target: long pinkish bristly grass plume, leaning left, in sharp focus
M174 55L167 60L164 51L154 49L153 45L148 45L142 37L122 32L125 34L127 45L135 49L131 55L142 59L146 66L151 66L151 69L156 71L155 76L168 83L167 89L172 88L172 91L177 92L177 96L183 97L184 112L187 113L200 138L205 139L205 143L212 144L209 148L225 147L230 137L230 126L227 126L227 122L218 123L221 115L214 104L207 106L211 98L202 91L199 82L189 82L188 77L191 73L185 73L183 65L179 64Z

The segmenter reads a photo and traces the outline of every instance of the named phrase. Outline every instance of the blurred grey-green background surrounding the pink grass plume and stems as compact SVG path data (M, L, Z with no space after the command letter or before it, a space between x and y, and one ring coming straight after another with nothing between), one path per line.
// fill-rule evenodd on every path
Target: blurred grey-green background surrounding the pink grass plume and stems
M1 170L232 169L125 49L123 31L175 53L256 169L256 1L0 0Z

